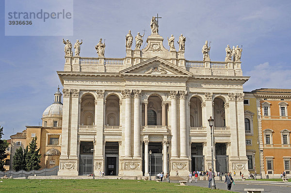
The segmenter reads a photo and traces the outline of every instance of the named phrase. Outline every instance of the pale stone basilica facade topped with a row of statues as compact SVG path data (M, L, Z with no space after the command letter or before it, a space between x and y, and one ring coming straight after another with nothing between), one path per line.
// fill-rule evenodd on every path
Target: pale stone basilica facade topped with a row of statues
M66 52L57 72L64 86L58 175L209 170L210 116L215 171L248 174L242 85L249 77L240 59L212 62L206 43L203 61L187 60L186 38L181 34L177 51L172 36L168 50L154 25L143 49L140 34L131 48L129 31L125 58L104 57L101 39L96 58Z

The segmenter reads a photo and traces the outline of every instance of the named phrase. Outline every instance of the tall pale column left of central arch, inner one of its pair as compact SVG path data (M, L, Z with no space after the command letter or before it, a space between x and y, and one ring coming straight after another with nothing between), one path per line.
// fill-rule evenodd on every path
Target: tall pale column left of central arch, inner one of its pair
M140 94L141 90L133 90L134 93L134 122L133 122L133 157L141 158L140 155Z

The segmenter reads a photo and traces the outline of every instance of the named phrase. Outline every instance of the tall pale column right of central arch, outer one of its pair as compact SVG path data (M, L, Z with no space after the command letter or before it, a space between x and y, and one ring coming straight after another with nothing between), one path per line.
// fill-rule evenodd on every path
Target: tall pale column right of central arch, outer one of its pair
M186 92L180 94L180 158L187 158Z

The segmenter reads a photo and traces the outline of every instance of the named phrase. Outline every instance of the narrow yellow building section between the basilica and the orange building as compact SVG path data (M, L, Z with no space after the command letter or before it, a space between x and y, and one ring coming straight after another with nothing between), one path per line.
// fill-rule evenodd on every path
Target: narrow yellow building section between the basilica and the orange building
M244 92L244 129L248 170L251 174L260 175L259 133L256 97L251 92Z

